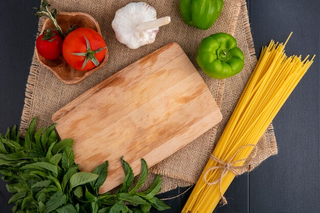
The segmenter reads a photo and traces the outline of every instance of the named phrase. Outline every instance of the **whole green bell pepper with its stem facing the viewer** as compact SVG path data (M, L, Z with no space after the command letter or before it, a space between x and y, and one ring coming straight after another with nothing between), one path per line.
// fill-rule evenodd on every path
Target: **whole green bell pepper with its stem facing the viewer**
M244 55L232 35L216 33L201 41L197 62L211 78L224 79L240 73Z

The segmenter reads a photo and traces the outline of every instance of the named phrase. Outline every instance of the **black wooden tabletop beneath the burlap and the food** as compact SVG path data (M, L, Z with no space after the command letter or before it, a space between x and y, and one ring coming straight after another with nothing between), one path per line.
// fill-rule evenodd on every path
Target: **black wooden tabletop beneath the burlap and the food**
M32 61L40 0L1 0L0 4L0 132L19 124ZM320 212L319 193L319 1L247 0L257 55L270 39L284 41L293 31L288 54L316 54L309 72L273 121L279 154L249 175L237 177L216 212ZM161 197L173 197L178 188ZM180 212L191 191L167 201L166 212ZM0 181L0 212L10 212L10 195ZM153 211L155 212L155 211Z

